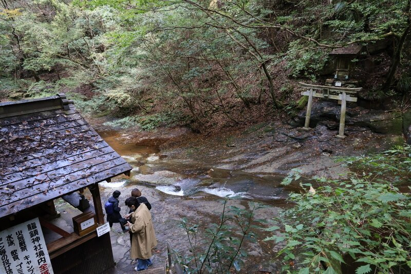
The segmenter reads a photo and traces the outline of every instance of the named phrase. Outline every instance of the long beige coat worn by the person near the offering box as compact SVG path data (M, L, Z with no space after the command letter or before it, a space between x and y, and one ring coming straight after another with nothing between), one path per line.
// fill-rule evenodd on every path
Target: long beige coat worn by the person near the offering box
M132 222L133 225L129 228L133 233L131 258L150 259L151 251L157 245L157 239L150 211L145 204L140 204L133 212Z

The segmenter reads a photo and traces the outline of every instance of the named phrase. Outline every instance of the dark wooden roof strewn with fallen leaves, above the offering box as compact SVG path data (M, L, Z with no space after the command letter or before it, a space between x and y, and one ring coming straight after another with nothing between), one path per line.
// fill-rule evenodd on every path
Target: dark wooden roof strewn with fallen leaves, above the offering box
M0 103L0 218L131 169L64 94Z

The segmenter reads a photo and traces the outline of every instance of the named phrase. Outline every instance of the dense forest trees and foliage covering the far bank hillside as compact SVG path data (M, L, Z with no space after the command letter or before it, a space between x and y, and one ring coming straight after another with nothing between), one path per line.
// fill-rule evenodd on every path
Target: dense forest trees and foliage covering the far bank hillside
M193 128L220 116L243 123L238 112L253 104L292 114L295 91L278 89L279 71L314 81L332 48L399 37L407 3L18 1L0 11L0 78L14 79L1 80L0 93L85 94L87 113L145 115L147 129L171 124L160 112ZM404 76L397 89L408 86Z

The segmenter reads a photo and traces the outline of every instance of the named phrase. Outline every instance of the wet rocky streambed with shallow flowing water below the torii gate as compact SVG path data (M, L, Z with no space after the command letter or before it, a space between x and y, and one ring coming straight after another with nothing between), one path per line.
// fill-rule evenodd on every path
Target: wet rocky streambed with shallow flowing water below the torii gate
M208 137L180 128L136 133L94 125L133 166L129 178L100 183L103 200L120 190L123 203L133 188L139 188L153 206L157 256L167 257L166 241L187 254L189 243L178 226L181 219L198 224L200 231L218 222L222 197L241 197L229 202L241 208L249 208L250 202L269 205L257 210L256 218L270 220L282 208L292 206L286 203L291 191L301 190L297 185L285 188L280 184L291 169L300 169L306 178L341 178L348 169L336 157L382 151L404 142L398 112L377 113L359 107L347 111L347 137L336 139L338 109L335 103L314 105L310 131L300 128L303 112L291 121L265 122ZM126 213L125 206L123 210ZM249 257L244 271L275 273L281 268L282 262L274 258L281 245L263 241L266 236L260 233L257 243L245 246ZM113 241L118 273L123 273L130 268L128 234L116 233Z

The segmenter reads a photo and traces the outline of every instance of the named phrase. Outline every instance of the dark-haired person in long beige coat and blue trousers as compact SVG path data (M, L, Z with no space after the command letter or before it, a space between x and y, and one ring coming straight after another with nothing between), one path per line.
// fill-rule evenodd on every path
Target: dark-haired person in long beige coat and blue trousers
M131 257L138 260L136 271L145 270L153 264L150 258L157 245L151 214L147 206L140 204L135 197L127 199L127 206L134 210L132 222L127 222L129 231L133 233Z

